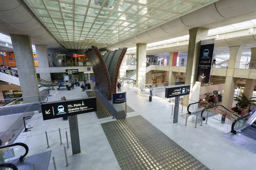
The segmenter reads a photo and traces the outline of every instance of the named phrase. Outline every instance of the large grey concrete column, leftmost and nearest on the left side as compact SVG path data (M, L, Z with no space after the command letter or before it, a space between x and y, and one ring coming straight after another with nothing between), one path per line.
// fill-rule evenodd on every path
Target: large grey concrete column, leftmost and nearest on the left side
M22 96L38 96L40 93L35 71L31 38L28 35L10 34L10 36L19 74ZM35 101L37 101L36 98L24 100L25 103Z

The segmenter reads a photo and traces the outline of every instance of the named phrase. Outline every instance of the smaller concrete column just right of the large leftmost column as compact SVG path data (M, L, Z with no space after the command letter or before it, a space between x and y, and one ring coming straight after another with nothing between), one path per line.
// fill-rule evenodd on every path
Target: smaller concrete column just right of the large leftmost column
M38 57L38 70L40 78L47 81L52 81L49 71L47 45L35 44L35 50Z

